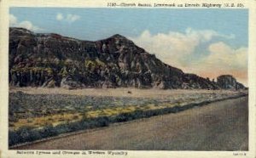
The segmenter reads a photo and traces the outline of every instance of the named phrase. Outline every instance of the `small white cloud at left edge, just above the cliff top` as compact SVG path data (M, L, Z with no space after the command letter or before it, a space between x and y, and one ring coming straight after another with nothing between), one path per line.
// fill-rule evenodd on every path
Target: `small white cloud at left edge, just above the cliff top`
M14 14L9 14L9 25L13 27L23 27L30 31L44 31L44 29L38 27L37 25L33 25L31 21L19 21Z

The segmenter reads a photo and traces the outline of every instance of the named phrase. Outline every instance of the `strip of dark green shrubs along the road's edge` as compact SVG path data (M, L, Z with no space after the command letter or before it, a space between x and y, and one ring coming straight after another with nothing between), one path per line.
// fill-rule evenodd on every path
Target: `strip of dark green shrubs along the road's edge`
M21 127L16 131L9 131L9 145L31 142L41 138L49 138L61 133L70 133L84 129L95 127L108 127L113 122L131 121L139 118L147 118L150 116L164 115L168 113L176 113L177 111L186 110L200 104L189 104L186 106L174 106L157 110L134 110L128 113L121 113L117 116L99 116L96 118L88 118L83 116L80 121L66 121L53 127L51 124L46 125L42 129L32 129L32 127Z

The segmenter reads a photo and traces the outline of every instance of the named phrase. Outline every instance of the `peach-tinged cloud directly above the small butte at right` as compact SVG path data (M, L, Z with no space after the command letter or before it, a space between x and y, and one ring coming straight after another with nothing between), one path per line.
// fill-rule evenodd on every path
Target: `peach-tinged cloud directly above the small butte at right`
M224 42L215 42L208 49L210 54L206 59L201 59L199 66L201 75L214 77L230 74L247 85L247 48L231 48Z

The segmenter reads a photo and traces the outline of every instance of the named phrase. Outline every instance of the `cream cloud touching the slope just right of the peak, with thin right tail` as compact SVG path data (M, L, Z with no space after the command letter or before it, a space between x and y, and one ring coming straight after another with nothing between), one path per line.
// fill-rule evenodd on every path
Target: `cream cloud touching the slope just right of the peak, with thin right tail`
M149 31L143 31L139 37L131 37L131 40L148 52L156 54L164 62L183 66L182 60L195 52L195 48L203 42L209 42L212 37L231 37L219 35L212 30L196 31L188 28L184 33L169 31L152 35Z

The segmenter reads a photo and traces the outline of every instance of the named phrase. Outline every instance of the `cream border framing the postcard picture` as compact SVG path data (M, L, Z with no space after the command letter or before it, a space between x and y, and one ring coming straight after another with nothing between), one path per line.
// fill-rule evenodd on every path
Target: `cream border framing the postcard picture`
M107 8L107 3L127 3L119 0L0 0L0 157L35 157L17 155L16 150L8 150L8 46L9 46L9 7L72 7ZM249 9L248 43L248 87L249 87L249 150L237 151L255 157L256 131L256 0L130 0L129 3L243 3ZM122 7L123 8L123 7ZM184 8L184 7L183 7ZM142 8L143 9L143 8ZM172 8L170 8L172 9ZM207 9L207 8L201 8ZM218 9L218 8L216 8ZM229 8L225 8L229 9ZM125 157L237 157L236 151L131 151ZM41 155L39 157L71 157L72 155ZM123 157L119 155L74 155L74 157Z

